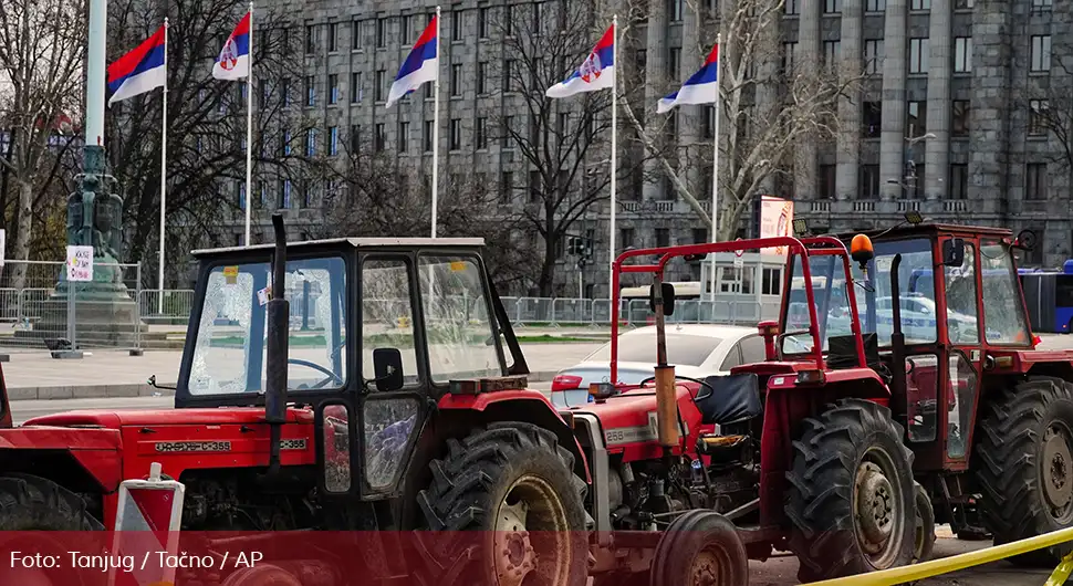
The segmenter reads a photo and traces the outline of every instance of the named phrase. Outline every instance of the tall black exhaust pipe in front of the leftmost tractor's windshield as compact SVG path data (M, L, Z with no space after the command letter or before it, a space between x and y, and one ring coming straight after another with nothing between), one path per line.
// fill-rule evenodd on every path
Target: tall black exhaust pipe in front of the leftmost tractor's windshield
M270 426L269 474L279 472L280 443L287 422L287 357L290 335L290 304L284 299L287 286L287 230L283 216L272 214L275 231L275 254L272 258L272 289L268 302L268 359L265 360L264 421Z

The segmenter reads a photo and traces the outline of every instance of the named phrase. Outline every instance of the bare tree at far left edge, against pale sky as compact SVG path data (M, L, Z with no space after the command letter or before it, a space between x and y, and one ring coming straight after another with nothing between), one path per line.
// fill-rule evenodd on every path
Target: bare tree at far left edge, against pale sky
M4 188L18 191L12 258L27 260L33 238L35 195L54 193L69 138L60 123L80 104L85 55L85 3L81 0L0 2L0 126L8 140L0 155ZM42 206L43 208L44 206ZM25 265L13 266L22 286Z

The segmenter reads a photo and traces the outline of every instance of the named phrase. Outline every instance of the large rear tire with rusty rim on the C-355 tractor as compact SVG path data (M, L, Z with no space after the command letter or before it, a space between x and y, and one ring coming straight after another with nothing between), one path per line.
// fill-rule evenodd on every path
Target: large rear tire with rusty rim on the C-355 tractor
M479 534L475 542L449 540L439 548L444 562L454 561L462 544L476 543L479 553L465 576L469 584L510 585L522 578L543 586L585 584L587 486L554 433L531 423L498 422L461 441L450 439L447 448L446 458L430 463L433 480L417 503L428 529Z

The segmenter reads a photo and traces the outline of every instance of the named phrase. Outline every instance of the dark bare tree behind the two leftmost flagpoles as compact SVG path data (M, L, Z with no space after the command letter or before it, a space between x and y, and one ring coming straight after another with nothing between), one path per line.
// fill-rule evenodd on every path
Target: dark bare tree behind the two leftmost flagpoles
M232 0L169 4L167 214L169 239L176 242L173 254L181 254L171 258L185 258L190 245L223 243L230 236L221 232L230 230L226 220L242 220L243 201L256 208L268 191L265 179L301 175L305 161L304 140L313 122L302 112L301 51L289 21L268 10L258 15L253 96L246 95L244 80L222 82L211 76L212 63L238 22L240 8ZM156 4L145 0L122 0L110 12L108 46L117 55L152 33L164 17ZM246 102L250 97L258 181L254 193L242 195ZM125 259L144 265L156 261L152 251L160 213L160 106L158 92L124 101L111 108L107 125L112 171L124 196Z

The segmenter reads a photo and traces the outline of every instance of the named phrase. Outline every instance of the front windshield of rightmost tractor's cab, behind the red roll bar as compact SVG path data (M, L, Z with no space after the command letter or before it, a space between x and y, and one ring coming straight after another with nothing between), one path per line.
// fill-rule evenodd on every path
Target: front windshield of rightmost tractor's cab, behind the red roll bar
M881 241L874 248L875 258L868 263L867 279L857 263L850 263L854 282L865 285L854 291L861 331L877 334L881 347L890 345L894 333L890 265L895 254L902 254L898 297L903 301L902 329L906 343L934 343L936 316L935 282L930 278L931 242L927 239ZM783 324L785 332L798 334L786 336L783 346L786 354L804 353L812 348L811 334L800 333L806 331L810 323L800 258L794 258L793 264L790 304ZM820 338L826 352L831 337L847 336L853 332L845 271L842 259L837 257L810 257L810 269Z

